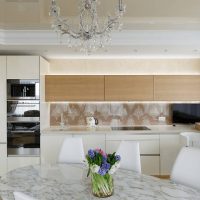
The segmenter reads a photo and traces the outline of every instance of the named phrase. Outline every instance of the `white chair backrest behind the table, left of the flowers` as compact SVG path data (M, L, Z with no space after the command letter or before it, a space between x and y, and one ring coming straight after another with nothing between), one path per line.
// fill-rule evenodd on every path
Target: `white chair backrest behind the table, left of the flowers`
M66 138L63 141L58 163L83 163L85 159L81 137Z

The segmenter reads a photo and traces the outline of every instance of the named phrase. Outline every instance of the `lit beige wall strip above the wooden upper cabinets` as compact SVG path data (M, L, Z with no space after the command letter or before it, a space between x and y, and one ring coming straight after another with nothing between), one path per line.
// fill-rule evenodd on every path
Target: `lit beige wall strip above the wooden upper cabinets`
M50 74L200 75L200 59L50 60Z

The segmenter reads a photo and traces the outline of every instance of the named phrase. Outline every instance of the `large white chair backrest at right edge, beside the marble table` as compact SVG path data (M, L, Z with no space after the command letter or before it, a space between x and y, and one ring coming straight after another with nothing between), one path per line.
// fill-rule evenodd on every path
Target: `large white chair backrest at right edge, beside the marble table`
M177 156L171 173L175 183L200 189L200 149L183 147Z

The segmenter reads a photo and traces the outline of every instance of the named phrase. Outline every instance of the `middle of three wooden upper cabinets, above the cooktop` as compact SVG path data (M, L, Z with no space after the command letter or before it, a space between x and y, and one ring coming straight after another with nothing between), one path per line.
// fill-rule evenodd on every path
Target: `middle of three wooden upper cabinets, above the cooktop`
M105 76L105 100L153 100L153 76Z

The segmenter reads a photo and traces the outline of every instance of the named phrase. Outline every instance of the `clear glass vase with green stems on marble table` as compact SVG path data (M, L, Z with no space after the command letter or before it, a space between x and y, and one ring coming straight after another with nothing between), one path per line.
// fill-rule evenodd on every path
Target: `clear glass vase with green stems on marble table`
M114 192L113 177L110 174L101 176L97 173L91 173L92 193L99 198L112 196Z

